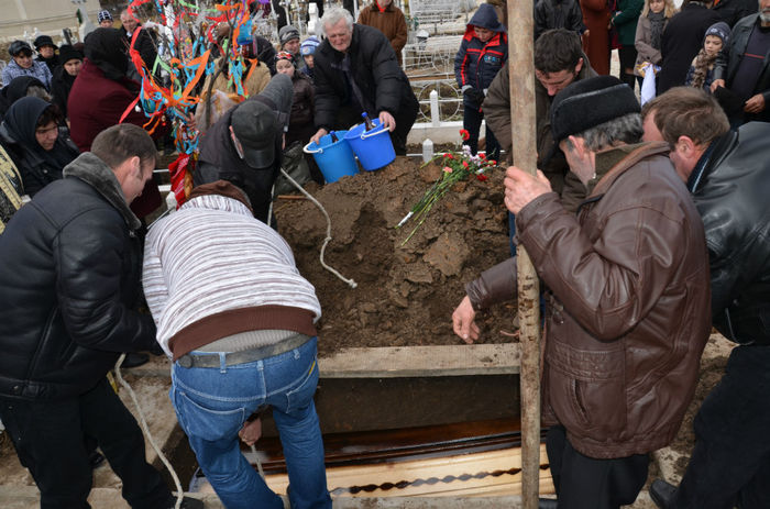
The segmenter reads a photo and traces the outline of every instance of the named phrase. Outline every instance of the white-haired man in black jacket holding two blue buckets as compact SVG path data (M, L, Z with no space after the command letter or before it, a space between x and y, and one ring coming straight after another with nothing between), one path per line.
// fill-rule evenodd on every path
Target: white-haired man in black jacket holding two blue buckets
M377 29L354 24L334 7L321 18L327 38L315 54L317 142L333 129L361 122L366 112L391 131L396 154L406 155L406 136L419 103L387 37Z

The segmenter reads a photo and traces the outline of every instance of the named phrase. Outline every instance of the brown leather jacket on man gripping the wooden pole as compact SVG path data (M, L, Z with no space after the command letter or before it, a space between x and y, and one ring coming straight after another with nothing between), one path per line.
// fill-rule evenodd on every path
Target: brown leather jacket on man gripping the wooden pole
M548 287L543 419L556 418L591 457L671 442L708 339L703 224L668 152L664 143L601 152L597 170L601 158L614 164L576 217L556 192L516 215L519 242ZM512 294L512 261L466 286L474 308Z

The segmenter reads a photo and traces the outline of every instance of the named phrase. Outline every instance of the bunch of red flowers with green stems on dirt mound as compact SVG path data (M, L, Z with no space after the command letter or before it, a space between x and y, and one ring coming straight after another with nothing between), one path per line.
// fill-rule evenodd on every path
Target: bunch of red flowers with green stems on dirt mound
M463 141L468 140L468 131L464 129L460 130L460 136L463 139ZM411 219L419 221L414 230L411 230L411 233L409 233L409 236L402 242L402 245L409 242L409 239L411 239L415 232L417 232L420 225L425 222L428 212L430 212L433 204L443 198L452 186L461 180L466 180L471 176L484 181L487 179L485 171L497 166L497 162L494 159L486 159L483 154L472 155L471 148L468 145L463 145L461 152L446 152L443 154L437 154L432 159L424 163L420 168L424 168L430 163L439 163L440 165L443 165L441 178L433 182L430 189L425 192L420 201L418 201L411 208L409 213L407 213L396 225L396 228L402 228Z

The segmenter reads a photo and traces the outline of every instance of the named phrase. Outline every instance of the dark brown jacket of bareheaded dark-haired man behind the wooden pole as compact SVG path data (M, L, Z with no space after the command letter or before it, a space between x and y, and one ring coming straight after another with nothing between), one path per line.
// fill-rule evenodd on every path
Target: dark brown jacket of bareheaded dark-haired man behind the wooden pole
M583 67L575 81L596 76L591 68L588 57L583 55ZM484 100L484 118L486 123L495 133L495 137L501 147L508 154L508 162L513 162L510 139L510 78L508 66L497 73L495 79L490 85L490 89ZM581 201L585 198L585 187L570 173L564 154L553 143L551 135L551 101L552 97L540 81L535 80L535 121L537 122L537 144L538 144L538 168L548 177L551 188L561 196L562 204L566 210L574 212Z

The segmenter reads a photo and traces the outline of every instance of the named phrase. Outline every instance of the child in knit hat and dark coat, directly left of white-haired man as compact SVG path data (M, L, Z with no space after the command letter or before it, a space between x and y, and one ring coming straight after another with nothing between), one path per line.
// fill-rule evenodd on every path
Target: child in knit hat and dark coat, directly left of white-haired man
M316 106L316 91L310 78L295 68L294 55L289 52L278 52L275 55L275 70L292 78L294 96L292 98L292 113L289 115L289 129L286 132L286 150L298 142L305 146L310 136L316 133L312 112ZM318 184L323 184L323 174L309 154L305 154L310 176Z

